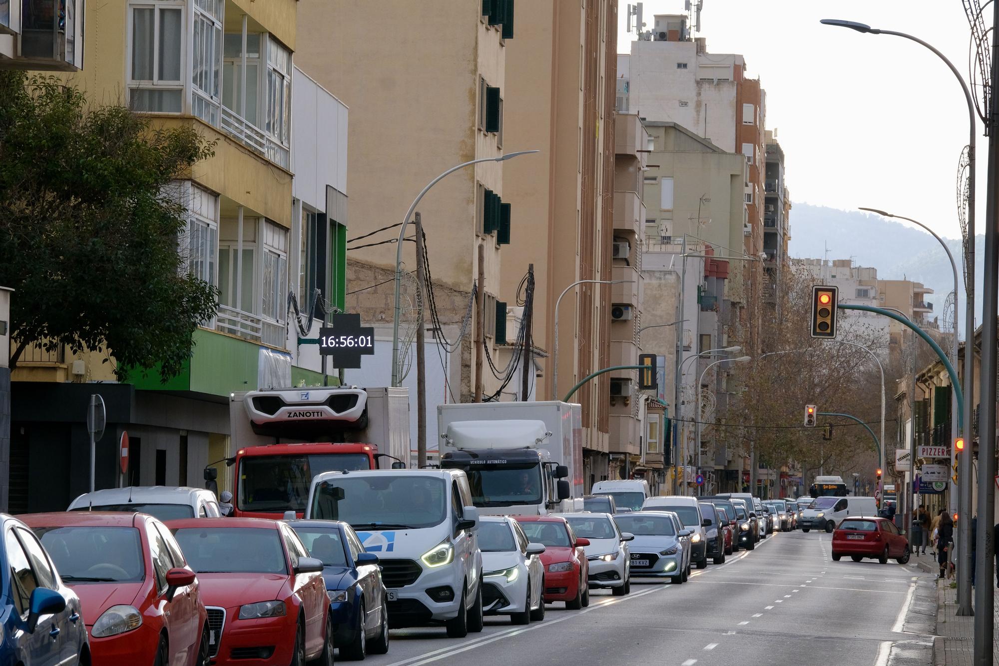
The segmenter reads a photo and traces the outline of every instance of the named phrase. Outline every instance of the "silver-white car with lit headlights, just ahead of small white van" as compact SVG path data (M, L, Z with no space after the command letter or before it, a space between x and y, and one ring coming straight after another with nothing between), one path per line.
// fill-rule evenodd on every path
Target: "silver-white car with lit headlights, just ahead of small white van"
M634 535L629 548L632 576L669 578L680 584L690 575L690 547L681 538L689 530L677 530L675 514L636 511L614 516L621 532Z

